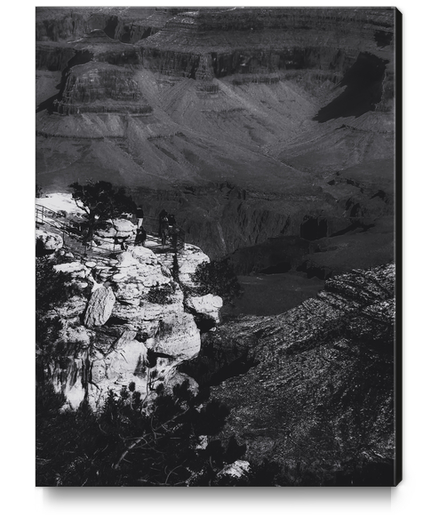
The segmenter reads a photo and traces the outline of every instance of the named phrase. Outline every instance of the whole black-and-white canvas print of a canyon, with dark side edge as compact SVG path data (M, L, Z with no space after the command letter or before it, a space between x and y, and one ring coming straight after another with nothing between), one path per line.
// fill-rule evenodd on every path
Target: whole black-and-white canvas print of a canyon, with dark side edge
M35 23L37 486L395 486L397 9Z

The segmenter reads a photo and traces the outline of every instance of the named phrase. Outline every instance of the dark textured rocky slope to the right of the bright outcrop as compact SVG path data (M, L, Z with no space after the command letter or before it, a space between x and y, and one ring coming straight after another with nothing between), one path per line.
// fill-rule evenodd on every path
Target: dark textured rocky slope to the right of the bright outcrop
M222 437L246 443L246 459L278 462L292 484L372 484L367 467L391 483L394 270L337 276L298 308L206 336L185 371L219 383L211 395L232 408Z

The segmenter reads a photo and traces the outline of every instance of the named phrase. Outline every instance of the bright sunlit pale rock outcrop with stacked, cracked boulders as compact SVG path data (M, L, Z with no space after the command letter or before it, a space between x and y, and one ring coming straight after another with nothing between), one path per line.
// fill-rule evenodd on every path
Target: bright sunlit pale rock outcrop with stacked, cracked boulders
M44 313L43 320L58 326L58 334L42 373L65 395L67 405L77 408L87 399L97 410L109 391L120 394L130 383L151 403L159 385L169 391L184 382L187 376L177 367L200 350L194 316L214 326L222 307L220 297L201 296L193 281L196 267L208 257L192 245L179 251L178 281L187 286L185 295L172 276L169 252L140 246L113 252L116 239L134 241L136 229L129 221L117 220L109 230L97 231L97 250L87 258L70 236L62 248L63 219L49 222L38 232L39 248L50 253L55 273L66 274L74 293ZM193 380L189 383L193 389Z

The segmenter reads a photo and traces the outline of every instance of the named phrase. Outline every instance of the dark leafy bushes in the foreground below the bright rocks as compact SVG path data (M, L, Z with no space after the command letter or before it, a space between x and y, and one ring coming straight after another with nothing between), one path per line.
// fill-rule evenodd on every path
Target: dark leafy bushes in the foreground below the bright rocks
M146 410L131 383L112 392L100 414L83 403L63 411L52 387L37 390L37 484L39 486L187 486L217 484L217 474L245 451L232 439L199 445L224 425L229 410L187 383L168 396L158 389Z

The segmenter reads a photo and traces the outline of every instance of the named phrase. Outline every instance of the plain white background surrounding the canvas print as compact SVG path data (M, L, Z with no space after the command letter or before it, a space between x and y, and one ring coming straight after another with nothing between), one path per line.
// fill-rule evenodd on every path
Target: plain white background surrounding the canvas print
M429 513L430 8L426 2L149 2L146 5L394 6L403 17L404 480L397 488L78 489L34 487L34 188L36 5L1 18L2 252L0 488L9 514ZM91 2L89 5L145 5ZM427 508L428 507L428 508Z

